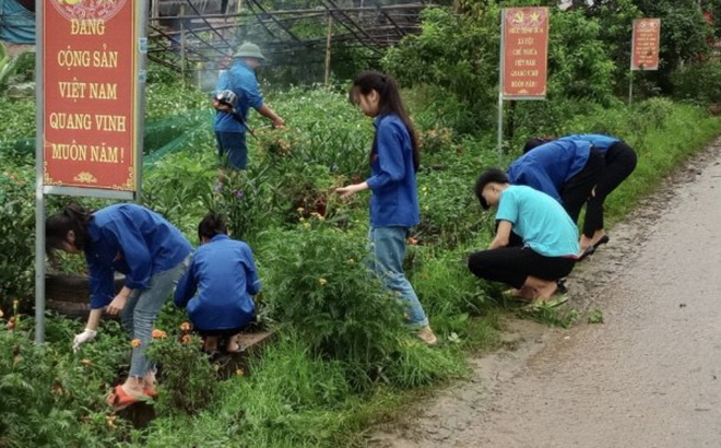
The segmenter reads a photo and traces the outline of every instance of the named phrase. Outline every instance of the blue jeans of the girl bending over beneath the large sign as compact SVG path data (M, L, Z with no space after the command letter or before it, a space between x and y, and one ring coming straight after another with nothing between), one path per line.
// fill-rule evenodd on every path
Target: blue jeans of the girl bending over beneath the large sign
M165 300L173 293L173 287L190 266L191 257L191 255L188 256L175 268L157 272L151 279L150 288L134 290L128 298L120 320L130 338L140 341L140 346L132 350L129 376L142 377L154 370L150 359L145 356L145 350L153 340L153 325Z

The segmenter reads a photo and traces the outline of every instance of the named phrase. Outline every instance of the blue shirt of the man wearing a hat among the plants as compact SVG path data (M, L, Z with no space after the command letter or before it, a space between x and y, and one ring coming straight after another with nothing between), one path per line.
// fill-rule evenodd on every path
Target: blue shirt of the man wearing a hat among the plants
M263 97L258 87L256 73L243 60L236 60L229 70L221 73L216 92L233 91L238 97L236 111L248 122L248 110L258 110L263 105ZM246 132L246 127L233 118L231 114L221 110L215 113L216 132Z

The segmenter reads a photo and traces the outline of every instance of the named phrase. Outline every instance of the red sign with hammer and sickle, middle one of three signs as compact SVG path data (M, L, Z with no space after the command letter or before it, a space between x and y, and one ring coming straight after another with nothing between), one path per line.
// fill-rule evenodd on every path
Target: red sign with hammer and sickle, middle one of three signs
M509 8L501 13L501 96L546 96L548 8Z

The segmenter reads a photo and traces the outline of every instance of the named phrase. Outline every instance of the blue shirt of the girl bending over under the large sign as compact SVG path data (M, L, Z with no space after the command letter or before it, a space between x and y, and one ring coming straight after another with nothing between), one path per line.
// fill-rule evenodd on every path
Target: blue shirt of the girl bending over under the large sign
M191 250L180 231L163 216L130 203L93 213L87 235L85 259L93 309L113 300L115 271L126 274L129 288L147 290L154 274L175 268Z

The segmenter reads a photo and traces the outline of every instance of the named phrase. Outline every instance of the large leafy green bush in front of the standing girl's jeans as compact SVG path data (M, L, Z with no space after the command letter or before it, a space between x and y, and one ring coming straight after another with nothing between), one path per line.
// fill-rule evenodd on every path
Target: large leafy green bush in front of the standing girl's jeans
M271 318L326 355L377 366L398 344L400 305L366 268L367 243L321 219L273 235L263 250Z

